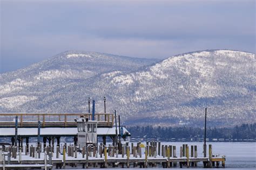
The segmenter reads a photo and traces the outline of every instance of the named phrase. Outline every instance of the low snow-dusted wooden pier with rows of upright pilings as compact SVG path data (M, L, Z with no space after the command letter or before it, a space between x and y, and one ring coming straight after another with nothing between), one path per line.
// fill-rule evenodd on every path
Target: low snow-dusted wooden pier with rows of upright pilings
M78 148L71 144L45 148L41 144L29 148L5 147L3 151L0 149L3 155L0 168L225 167L225 157L212 155L212 145L208 146L208 157L198 157L196 145L176 148L160 142L83 146L80 152Z

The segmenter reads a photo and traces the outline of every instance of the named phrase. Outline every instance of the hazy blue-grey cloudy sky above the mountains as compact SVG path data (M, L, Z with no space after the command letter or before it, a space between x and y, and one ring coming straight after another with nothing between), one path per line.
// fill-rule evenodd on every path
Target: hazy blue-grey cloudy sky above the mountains
M255 53L255 1L1 1L0 72L68 50L167 58Z

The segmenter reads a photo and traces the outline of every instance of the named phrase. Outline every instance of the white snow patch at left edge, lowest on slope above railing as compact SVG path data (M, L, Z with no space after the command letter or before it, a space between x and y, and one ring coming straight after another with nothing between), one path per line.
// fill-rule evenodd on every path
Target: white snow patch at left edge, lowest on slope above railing
M35 96L14 96L14 97L5 97L0 98L0 106L5 108L14 108L21 106L24 103L27 103L31 100L36 100Z

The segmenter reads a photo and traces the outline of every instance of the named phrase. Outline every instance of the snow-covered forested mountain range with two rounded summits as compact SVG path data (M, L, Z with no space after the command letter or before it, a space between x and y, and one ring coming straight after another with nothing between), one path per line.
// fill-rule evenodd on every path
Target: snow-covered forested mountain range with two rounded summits
M255 122L255 55L231 50L158 61L96 52L64 52L0 74L0 112L117 110L125 124L210 125Z

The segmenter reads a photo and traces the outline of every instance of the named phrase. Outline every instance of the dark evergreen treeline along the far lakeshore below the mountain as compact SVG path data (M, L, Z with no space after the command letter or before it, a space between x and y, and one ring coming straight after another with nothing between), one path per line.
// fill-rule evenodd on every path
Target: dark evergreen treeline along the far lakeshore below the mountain
M127 127L132 134L131 138L195 138L203 137L204 128L198 127L152 127L152 126L131 126ZM255 139L256 138L256 123L242 124L233 128L207 128L206 138L224 138L224 139ZM146 136L145 136L146 135Z

